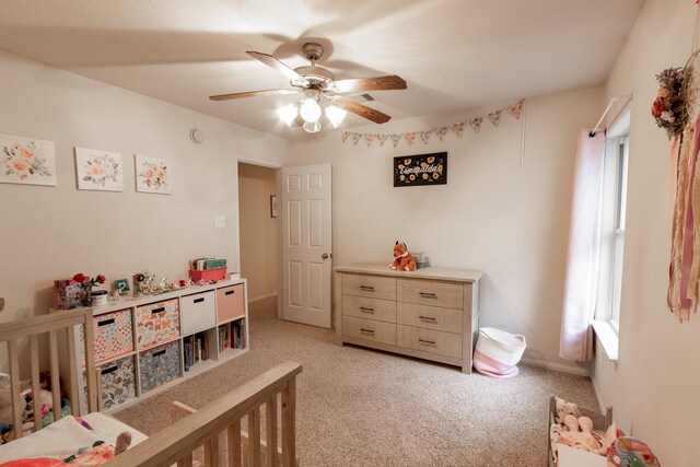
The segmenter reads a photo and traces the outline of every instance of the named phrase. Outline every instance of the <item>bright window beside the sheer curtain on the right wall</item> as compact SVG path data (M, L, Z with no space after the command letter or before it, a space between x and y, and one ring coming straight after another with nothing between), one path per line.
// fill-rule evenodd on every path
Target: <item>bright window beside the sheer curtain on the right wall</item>
M619 330L629 154L629 110L610 126L605 151L596 320Z

